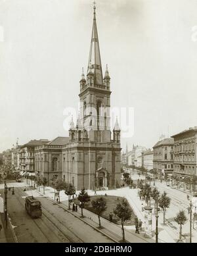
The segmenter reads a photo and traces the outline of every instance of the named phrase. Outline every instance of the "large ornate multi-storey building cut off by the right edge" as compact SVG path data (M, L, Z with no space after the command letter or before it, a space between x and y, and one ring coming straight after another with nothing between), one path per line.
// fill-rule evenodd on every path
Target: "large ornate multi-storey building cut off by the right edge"
M171 138L174 140L174 173L196 176L197 126Z

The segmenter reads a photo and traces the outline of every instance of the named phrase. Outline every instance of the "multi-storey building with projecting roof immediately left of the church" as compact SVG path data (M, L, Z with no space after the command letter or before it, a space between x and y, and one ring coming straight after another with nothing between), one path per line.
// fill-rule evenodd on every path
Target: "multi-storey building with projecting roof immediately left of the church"
M24 172L35 172L34 151L38 145L48 143L49 140L31 140L21 145L19 149L19 169Z

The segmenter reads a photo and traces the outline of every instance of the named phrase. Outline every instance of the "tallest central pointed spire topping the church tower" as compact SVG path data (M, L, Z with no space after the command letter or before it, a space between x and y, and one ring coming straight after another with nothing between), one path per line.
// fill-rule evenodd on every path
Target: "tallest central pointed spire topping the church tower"
M94 5L93 32L92 32L91 47L89 52L89 63L91 63L91 67L88 64L87 74L89 74L89 72L92 71L95 78L94 84L103 84L95 5Z

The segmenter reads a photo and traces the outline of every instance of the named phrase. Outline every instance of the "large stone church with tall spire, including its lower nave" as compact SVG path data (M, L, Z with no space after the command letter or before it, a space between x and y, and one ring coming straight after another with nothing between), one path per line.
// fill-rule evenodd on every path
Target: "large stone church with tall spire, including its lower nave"
M37 159L46 159L45 164L37 164L45 166L41 172L37 169L37 173L48 176L49 180L58 174L56 178L63 178L66 182L74 184L77 190L116 188L120 186L121 177L121 131L116 120L111 132L110 74L108 66L104 76L102 74L96 7L87 75L82 72L79 84L80 111L76 125L73 119L70 122L68 142L59 146L49 143L37 147ZM51 155L52 151L55 157ZM57 170L57 166L61 170Z

